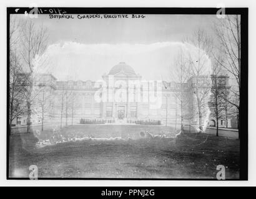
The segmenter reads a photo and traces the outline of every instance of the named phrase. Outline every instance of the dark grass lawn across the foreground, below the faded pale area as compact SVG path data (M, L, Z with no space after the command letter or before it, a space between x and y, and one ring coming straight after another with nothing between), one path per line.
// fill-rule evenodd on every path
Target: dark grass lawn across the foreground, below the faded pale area
M80 128L61 133L80 135ZM134 137L139 137L141 129L133 130ZM176 139L86 139L41 148L34 144L32 134L10 137L9 177L27 178L29 165L37 165L39 178L215 178L216 166L221 164L226 178L239 178L239 140L207 134Z

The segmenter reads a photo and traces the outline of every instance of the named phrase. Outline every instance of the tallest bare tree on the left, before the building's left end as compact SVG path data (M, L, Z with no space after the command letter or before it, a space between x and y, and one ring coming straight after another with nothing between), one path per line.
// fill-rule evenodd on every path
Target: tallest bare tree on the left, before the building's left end
M34 60L36 56L42 55L47 47L47 30L41 25L36 27L32 19L27 19L21 25L21 56L23 62L28 70L27 80L29 86L26 90L26 105L27 105L27 133L31 132L31 105L33 92L33 73L34 73Z

